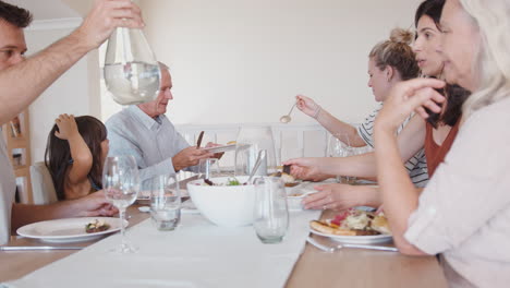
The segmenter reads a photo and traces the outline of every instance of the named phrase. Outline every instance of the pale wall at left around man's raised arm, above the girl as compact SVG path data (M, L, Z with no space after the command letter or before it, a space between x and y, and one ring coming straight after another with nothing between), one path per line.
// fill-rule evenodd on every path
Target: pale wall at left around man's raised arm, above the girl
M46 48L71 31L72 28L25 31L28 55ZM94 65L92 71L88 69L90 62ZM97 53L93 52L78 61L29 106L33 163L44 160L48 133L60 113L99 117L99 93L94 84L98 82L97 70ZM97 76L94 76L95 73ZM89 84L90 77L93 80Z

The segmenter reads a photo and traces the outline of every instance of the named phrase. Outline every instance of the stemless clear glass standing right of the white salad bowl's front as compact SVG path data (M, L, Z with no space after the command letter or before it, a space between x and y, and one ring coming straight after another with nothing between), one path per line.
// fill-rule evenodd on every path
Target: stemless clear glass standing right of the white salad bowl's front
M279 243L289 228L289 208L283 181L276 177L255 180L255 232L263 243Z

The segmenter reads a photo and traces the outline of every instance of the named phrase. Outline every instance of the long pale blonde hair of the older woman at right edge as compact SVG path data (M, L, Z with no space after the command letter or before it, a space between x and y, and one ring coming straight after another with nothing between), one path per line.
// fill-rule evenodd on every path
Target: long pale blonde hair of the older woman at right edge
M473 71L478 71L477 87L463 106L467 117L510 96L510 1L460 0L460 3L481 35L473 61Z

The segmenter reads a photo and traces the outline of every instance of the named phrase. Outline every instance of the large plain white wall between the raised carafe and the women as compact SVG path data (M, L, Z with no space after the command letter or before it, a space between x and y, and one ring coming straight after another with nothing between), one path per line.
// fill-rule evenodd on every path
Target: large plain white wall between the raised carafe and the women
M147 38L171 67L175 99L168 115L175 123L276 122L299 93L360 122L375 107L366 86L367 53L392 27L410 27L420 3L141 2ZM293 119L312 122L299 112Z

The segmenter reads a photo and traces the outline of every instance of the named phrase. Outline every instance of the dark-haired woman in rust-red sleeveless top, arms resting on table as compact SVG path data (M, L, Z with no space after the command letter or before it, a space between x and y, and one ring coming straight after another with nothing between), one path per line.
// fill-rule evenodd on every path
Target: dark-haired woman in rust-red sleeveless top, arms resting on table
M437 50L440 47L441 34L438 27L444 4L442 0L426 0L416 10L417 33L413 50L424 77L441 77L444 62ZM428 118L428 122L417 116L412 117L398 136L402 163L411 159L418 167L417 175L409 173L411 177L414 176L413 178L427 176L426 179L428 179L432 177L457 136L462 104L470 93L454 85L447 86L441 92L448 94L444 109ZM371 122L372 127L373 121ZM373 131L369 132L372 135ZM343 158L300 158L284 164L292 165L291 172L302 179L314 178L317 175L377 177L374 153ZM408 168L408 164L405 168ZM409 168L406 170L409 172ZM416 185L414 179L412 182ZM425 187L425 181L416 187L420 189ZM303 201L305 207L343 209L357 205L378 206L381 204L380 193L375 188L326 184L317 187L317 189L321 192L305 197Z

